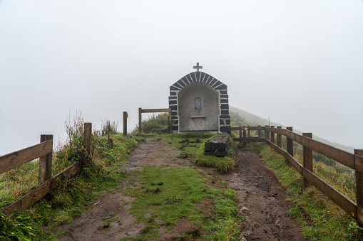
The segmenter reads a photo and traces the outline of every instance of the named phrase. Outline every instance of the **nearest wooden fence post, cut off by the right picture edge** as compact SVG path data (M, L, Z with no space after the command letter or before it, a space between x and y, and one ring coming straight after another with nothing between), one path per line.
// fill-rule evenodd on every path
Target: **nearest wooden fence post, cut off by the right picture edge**
M363 149L354 149L354 154L363 156ZM355 183L357 193L357 223L363 227L363 173L355 171ZM363 230L358 231L359 239L363 240Z

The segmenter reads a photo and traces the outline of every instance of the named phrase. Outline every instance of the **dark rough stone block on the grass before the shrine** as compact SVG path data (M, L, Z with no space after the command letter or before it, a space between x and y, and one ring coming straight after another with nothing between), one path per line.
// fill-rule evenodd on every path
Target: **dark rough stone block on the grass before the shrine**
M227 134L218 134L205 142L204 154L212 156L225 156L227 155L230 147L229 138Z

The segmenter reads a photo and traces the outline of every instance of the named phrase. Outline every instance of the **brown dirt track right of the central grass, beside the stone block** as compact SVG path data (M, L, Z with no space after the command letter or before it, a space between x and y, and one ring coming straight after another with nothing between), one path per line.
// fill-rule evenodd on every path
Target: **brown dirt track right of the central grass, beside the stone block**
M213 176L235 189L242 223L241 240L304 240L300 225L287 215L286 193L257 151L237 151L232 173Z

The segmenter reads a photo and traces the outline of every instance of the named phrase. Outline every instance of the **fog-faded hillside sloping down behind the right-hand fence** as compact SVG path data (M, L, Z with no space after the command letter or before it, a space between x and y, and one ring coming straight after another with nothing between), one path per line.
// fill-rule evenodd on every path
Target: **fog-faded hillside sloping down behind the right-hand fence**
M268 119L263 119L262 117L258 117L257 115L246 112L245 110L230 106L230 112L231 112L230 113L231 117L233 114L237 114L238 116L242 117L242 119L247 123L247 125L254 125L254 126L255 125L256 126L257 125L261 125L261 126L268 125ZM282 128L286 127L285 125L276 123L276 122L270 122L270 125L275 126L275 127L282 127ZM297 129L294 129L294 132L296 132L297 134L302 134L302 132ZM307 132L308 132L308 130L307 130ZM320 141L329 146L334 146L337 149L342 149L342 150L348 151L350 153L354 152L354 148L351 146L344 146L342 144L333 143L331 141L328 141L326 139L320 138L319 136L315 136L315 135L313 135L313 138L316 139L317 141Z

